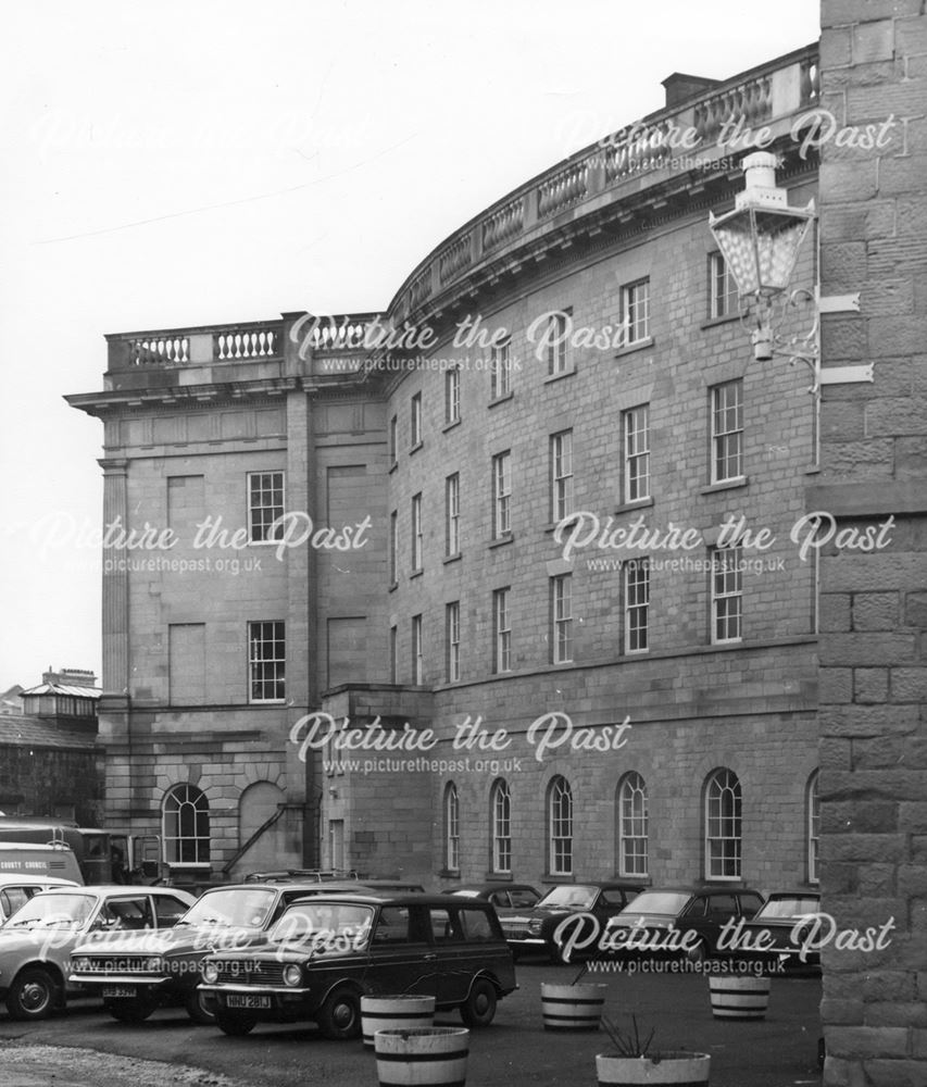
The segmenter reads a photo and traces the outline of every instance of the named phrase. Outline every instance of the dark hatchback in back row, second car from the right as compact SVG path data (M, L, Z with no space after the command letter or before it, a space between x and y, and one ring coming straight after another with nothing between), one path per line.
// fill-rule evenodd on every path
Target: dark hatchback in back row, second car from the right
M672 940L686 937L685 954L693 962L718 953L717 938L724 924L731 919L750 919L763 904L763 896L749 888L730 884L701 887L650 888L605 926L606 946L617 945L622 957L678 954L676 947L666 947L667 933ZM630 929L636 929L630 949L624 942ZM671 942L672 942L671 940Z

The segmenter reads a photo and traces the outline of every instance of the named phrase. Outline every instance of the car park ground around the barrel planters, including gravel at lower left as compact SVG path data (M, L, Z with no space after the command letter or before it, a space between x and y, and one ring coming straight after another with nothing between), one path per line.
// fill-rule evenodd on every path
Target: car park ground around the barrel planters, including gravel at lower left
M594 1054L607 1046L604 1034L564 1037L541 1026L540 983L569 983L577 967L535 960L516 970L519 989L500 1003L492 1026L471 1035L467 1082L592 1087ZM656 1027L657 1046L711 1053L712 1087L820 1083L818 978L775 978L766 1019L744 1023L712 1017L707 980L694 967L675 974L587 974L584 980L589 979L607 986L610 1017L624 1025L634 1012L641 1025ZM461 1025L456 1012L439 1013L436 1023ZM41 1048L29 1052L33 1046ZM59 1046L72 1048L57 1058ZM98 1052L125 1060L101 1060ZM375 1087L375 1058L360 1040L326 1041L311 1025L268 1024L229 1038L215 1027L195 1026L179 1008L161 1009L140 1026L115 1023L99 1001L88 1000L41 1023L16 1023L0 1013L2 1087L305 1087L310 1082Z

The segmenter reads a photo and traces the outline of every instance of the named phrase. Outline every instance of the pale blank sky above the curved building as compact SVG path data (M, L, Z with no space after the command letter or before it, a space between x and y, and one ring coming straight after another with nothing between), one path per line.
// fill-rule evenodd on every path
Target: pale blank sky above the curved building
M384 309L468 218L817 40L816 0L20 0L0 42L0 690L100 670L107 333Z

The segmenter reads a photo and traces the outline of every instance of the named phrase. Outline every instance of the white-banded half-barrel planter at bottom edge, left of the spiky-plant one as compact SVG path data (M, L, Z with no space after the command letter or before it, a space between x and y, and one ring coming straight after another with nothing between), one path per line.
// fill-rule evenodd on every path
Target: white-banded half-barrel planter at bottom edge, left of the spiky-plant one
M421 1026L374 1035L379 1087L464 1087L469 1030Z

